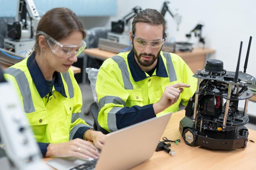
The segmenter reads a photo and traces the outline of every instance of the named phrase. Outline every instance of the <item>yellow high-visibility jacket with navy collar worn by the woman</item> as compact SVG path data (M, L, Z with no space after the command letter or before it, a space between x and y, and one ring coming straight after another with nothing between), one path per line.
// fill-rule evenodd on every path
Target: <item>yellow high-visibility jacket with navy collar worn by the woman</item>
M66 73L55 72L52 89L47 86L34 53L4 73L17 88L38 142L61 143L83 138L83 132L90 127L81 114L82 95L71 69Z

